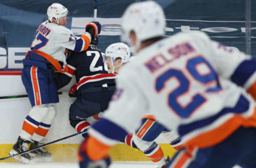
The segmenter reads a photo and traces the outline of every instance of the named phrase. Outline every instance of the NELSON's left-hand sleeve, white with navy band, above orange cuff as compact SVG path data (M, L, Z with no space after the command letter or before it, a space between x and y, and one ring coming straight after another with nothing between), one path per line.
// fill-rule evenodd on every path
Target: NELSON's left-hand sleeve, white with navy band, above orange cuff
M117 90L104 112L104 120L92 125L91 136L103 144L112 145L113 141L121 140L137 129L141 116L147 112L147 100L134 80L135 75L129 75L119 74ZM119 130L119 133L113 130Z

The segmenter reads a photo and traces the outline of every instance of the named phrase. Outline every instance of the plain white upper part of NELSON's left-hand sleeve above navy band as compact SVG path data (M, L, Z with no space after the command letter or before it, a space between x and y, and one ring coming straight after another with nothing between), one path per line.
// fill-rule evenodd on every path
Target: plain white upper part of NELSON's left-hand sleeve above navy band
M141 116L147 113L147 98L139 89L136 74L129 76L121 72L117 78L117 90L113 95L106 118L122 125L125 130L132 132L137 129ZM139 77L137 77L139 78Z

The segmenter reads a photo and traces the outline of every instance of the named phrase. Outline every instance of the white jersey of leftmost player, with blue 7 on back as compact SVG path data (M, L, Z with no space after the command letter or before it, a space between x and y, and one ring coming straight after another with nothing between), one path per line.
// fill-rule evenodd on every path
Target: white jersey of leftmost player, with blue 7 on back
M91 40L90 33L85 33ZM51 55L55 60L66 64L65 49L80 52L87 48L86 39L74 36L73 32L64 26L49 21L43 22L37 29L31 50L39 50Z

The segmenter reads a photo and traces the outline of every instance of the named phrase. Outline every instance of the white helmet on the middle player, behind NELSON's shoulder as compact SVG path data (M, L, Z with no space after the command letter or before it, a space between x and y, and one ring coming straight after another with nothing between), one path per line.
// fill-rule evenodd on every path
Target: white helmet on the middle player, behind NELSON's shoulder
M110 57L112 62L115 62L116 58L121 57L122 63L130 60L130 48L124 43L113 43L106 49L106 57Z

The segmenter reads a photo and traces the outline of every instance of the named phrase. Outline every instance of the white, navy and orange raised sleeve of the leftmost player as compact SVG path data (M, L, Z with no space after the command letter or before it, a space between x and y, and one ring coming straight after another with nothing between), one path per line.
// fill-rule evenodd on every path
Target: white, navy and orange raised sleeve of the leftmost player
M91 43L91 35L85 32L81 37L74 36L69 29L61 30L58 35L57 45L71 49L75 52L85 51Z

